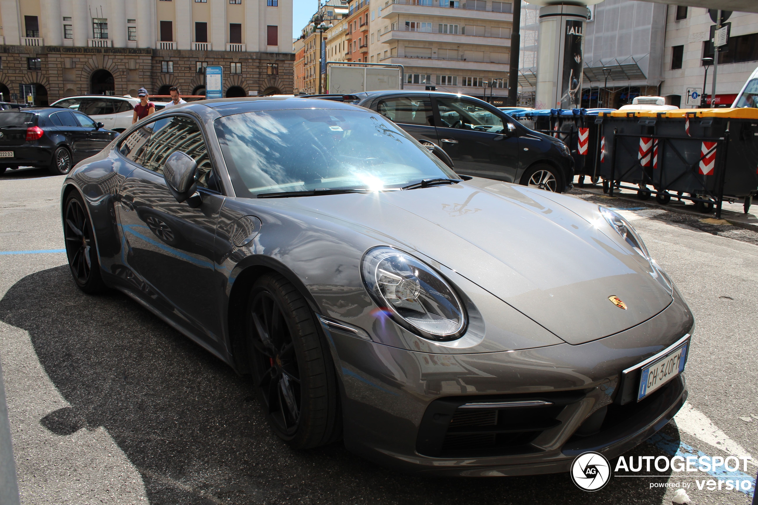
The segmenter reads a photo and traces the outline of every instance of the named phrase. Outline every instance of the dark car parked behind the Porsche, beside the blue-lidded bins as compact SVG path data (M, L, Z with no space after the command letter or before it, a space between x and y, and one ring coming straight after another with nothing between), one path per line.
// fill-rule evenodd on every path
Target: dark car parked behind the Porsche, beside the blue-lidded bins
M478 98L402 90L309 98L347 101L377 111L421 144L443 148L459 174L553 192L565 191L574 180L574 161L563 142L522 126Z

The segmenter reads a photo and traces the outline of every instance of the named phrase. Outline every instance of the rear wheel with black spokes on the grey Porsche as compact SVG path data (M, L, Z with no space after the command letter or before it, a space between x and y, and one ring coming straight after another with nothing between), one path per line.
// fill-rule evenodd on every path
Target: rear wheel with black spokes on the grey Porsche
M102 291L105 285L100 274L95 232L77 192L71 193L66 200L63 229L68 266L74 282L85 293Z

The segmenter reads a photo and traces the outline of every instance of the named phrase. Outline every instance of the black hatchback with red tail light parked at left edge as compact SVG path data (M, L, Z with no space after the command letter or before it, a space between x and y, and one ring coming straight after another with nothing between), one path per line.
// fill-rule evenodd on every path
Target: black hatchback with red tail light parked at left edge
M86 114L67 109L0 111L0 174L9 168L40 167L64 175L117 135Z

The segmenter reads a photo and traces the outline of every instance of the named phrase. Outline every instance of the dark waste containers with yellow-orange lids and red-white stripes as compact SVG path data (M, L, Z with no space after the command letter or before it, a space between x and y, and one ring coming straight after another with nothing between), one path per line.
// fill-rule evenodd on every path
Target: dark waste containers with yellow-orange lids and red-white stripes
M716 206L720 217L723 201L743 198L747 213L758 192L756 109L615 111L603 114L603 127L600 175L611 193L636 189L661 204L676 193L704 212Z

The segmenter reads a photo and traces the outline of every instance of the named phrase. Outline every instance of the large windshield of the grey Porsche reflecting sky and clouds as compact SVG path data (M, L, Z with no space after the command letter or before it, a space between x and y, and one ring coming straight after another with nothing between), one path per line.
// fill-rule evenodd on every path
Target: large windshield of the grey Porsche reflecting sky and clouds
M457 178L380 114L334 109L220 117L216 132L237 196L321 189L396 189Z

